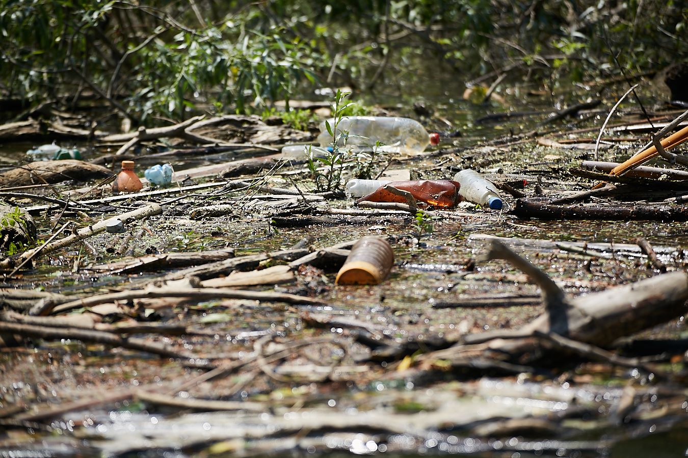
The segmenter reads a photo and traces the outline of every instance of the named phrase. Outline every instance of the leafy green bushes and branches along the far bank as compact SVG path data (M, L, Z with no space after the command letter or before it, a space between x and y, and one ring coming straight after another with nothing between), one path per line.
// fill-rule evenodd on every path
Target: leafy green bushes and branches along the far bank
M658 0L0 0L0 97L104 100L151 124L422 67L557 84L685 59L687 22L682 1Z

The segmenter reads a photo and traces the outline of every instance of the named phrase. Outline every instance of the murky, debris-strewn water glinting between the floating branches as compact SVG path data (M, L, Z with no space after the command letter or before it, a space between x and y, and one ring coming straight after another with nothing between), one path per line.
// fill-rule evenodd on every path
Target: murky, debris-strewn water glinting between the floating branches
M459 97L458 89L445 87L427 94L424 102L434 110L429 128L446 136L447 150L438 157L395 165L410 168L422 178L447 178L455 170L474 167L488 172L536 176L546 192L581 190L566 174L582 152L525 145L486 151L486 139L521 132L540 117L524 117L497 124L477 120L512 109L499 104L473 106ZM414 98L395 99L378 94L377 102L396 106L413 115ZM528 110L548 106L540 100ZM416 115L413 115L416 117ZM587 124L586 124L587 123ZM596 124L592 117L569 128ZM563 128L557 125L559 129ZM456 135L456 134L455 134ZM2 161L21 161L32 144L0 145ZM67 144L67 146L72 146ZM76 144L85 159L112 150ZM616 149L609 154L622 154ZM154 154L156 151L150 151ZM145 154L146 152L141 152ZM175 169L247 157L250 152L174 159ZM607 153L605 153L607 154ZM158 157L141 157L140 167L158 163ZM561 182L566 182L561 184ZM273 184L290 186L276 176ZM299 179L304 187L307 179ZM532 195L535 183L524 190ZM64 189L64 188L59 188ZM179 205L194 204L189 196ZM507 198L507 203L513 201ZM334 207L352 203L335 201ZM183 208L183 207L182 207ZM90 400L83 407L28 423L8 424L0 439L3 456L261 456L261 455L466 455L475 457L669 457L686 453L688 396L685 387L665 384L637 369L584 363L565 364L551 377L524 372L501 375L486 370L462 374L442 369L442 360L411 365L420 348L407 358L410 369L399 370L393 360L370 363L371 349L359 343L350 326L372 329L396 343L427 341L453 334L519 328L544 310L538 290L504 262L475 262L485 242L477 234L519 238L515 249L547 271L572 295L590 293L614 284L649 277L638 253L609 252L610 257L581 255L536 244L556 242L632 243L645 236L656 245L671 269L685 269L678 253L688 247L685 223L625 221L520 220L482 209L462 220L434 222L432 233L419 235L413 220L382 218L354 224L305 228L271 227L270 209L247 208L239 216L192 220L188 211L137 223L139 236L131 240L135 255L149 252L193 251L234 247L237 255L286 249L307 234L315 234L316 247L327 247L363 235L391 236L396 261L387 282L378 286L334 286L328 271L305 272L295 284L268 290L293 292L326 299L326 306L285 306L234 299L195 301L143 316L186 327L183 336L153 336L180 349L229 362L247 360L257 345L287 345L327 338L332 344L307 345L277 363L247 366L211 382L198 382L182 391L178 384L204 373L167 358L143 352L111 349L63 339L34 342L36 347L4 350L0 354L0 407L31 407L30 413L58 408L74 400ZM47 221L41 220L43 225ZM43 231L45 234L48 231ZM111 262L116 255L103 247L116 244L116 236L100 234L90 240L98 253L71 247L46 257L45 264L6 286L45 288L56 293L84 293L102 288L144 283L159 273L103 275L87 270L92 263ZM80 268L72 272L79 259ZM500 296L502 295L502 296ZM469 298L518 295L525 304L506 307L462 308ZM447 305L449 304L449 305ZM451 305L453 304L453 305ZM442 305L442 306L440 306ZM75 314L82 313L78 310ZM105 322L125 317L105 314ZM324 322L316 326L316 319ZM354 326L354 329L355 329ZM641 337L685 339L688 330L680 318L645 332ZM269 340L264 343L262 339ZM675 366L683 360L662 364ZM330 366L332 365L332 366ZM557 366L557 365L555 365ZM540 368L535 368L540 369ZM326 380L326 381L323 381ZM121 398L103 400L115 393ZM166 398L153 399L153 394ZM183 404L191 401L226 404ZM182 402L173 405L173 401ZM245 403L241 404L237 403ZM3 411L0 410L0 414ZM10 417L11 418L11 417Z

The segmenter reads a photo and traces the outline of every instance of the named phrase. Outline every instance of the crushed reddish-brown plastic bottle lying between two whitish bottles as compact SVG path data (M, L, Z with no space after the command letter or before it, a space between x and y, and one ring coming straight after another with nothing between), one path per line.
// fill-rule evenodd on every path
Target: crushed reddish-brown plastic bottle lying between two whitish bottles
M461 185L452 180L391 181L387 185L394 186L398 190L408 191L416 198L416 201L428 203L435 207L451 208L461 201L459 194ZM408 203L406 198L385 190L384 185L378 187L371 194L361 197L357 202L363 201Z

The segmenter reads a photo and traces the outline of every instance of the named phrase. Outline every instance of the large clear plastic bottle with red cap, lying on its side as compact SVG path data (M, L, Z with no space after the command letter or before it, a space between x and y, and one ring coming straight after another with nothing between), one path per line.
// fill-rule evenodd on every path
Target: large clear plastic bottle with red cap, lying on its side
M327 122L334 128L334 119ZM440 143L440 135L428 134L427 130L414 119L407 117L385 116L345 116L336 126L336 135L348 132L347 145L375 146L376 141L383 144L387 152L419 154L430 144ZM332 135L327 132L325 122L320 124L318 142L322 146L332 144ZM343 144L339 139L338 145Z

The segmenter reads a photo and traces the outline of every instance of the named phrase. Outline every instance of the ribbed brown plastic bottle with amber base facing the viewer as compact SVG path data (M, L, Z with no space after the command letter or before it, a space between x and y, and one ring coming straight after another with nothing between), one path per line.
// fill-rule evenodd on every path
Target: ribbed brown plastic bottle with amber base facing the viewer
M374 236L358 239L339 269L336 284L339 285L374 285L382 282L394 262L392 251L387 240Z

